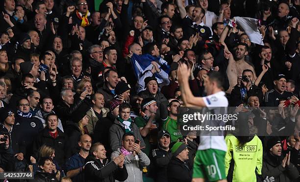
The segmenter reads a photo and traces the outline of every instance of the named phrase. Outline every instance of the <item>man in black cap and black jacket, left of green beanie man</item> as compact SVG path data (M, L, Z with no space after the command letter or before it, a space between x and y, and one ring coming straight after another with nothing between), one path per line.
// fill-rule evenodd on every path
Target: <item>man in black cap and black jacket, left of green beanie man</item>
M170 134L168 131L161 130L158 132L158 148L152 150L151 161L153 162L153 176L155 182L168 182L167 179L167 166L172 158L170 152Z

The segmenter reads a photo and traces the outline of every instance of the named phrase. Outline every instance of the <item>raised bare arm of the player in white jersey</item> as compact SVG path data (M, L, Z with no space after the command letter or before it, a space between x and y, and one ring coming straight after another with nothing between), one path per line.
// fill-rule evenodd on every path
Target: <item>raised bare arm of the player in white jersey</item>
M177 71L178 81L184 105L187 107L198 106L204 107L205 103L202 97L195 97L190 89L189 76L190 68L186 64L180 64Z

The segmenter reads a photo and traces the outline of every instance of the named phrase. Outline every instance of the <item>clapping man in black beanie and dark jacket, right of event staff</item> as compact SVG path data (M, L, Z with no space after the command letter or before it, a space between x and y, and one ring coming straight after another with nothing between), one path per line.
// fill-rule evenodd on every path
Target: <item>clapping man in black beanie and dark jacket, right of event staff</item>
M292 182L299 177L297 168L290 162L290 153L281 159L282 147L278 137L271 137L267 142L266 156L263 158L262 176L273 176L275 181Z

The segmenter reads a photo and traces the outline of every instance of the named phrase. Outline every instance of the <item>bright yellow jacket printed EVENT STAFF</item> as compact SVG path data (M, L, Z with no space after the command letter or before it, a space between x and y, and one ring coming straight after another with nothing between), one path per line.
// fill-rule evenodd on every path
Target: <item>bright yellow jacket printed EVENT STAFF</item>
M249 142L240 145L238 138L228 135L225 141L227 144L226 175L232 177L232 182L256 182L256 174L261 175L262 168L263 147L260 139L255 135ZM233 166L233 174L228 174L229 166Z

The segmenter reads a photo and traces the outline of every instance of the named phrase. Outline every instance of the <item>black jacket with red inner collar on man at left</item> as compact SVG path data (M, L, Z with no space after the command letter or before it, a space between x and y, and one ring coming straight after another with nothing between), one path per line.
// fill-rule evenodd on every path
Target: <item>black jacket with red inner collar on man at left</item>
M37 154L42 145L49 145L54 148L55 160L58 162L59 166L63 166L65 163L65 149L67 143L65 134L59 128L57 128L58 136L54 139L50 136L49 131L50 130L48 128L45 128L38 134L33 143L33 152L34 154Z

